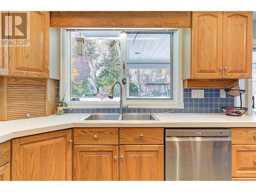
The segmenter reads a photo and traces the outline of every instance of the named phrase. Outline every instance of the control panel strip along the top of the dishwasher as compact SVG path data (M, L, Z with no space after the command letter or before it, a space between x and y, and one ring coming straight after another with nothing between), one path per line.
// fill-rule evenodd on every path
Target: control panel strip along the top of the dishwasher
M165 130L166 137L224 137L231 136L230 129L172 129Z

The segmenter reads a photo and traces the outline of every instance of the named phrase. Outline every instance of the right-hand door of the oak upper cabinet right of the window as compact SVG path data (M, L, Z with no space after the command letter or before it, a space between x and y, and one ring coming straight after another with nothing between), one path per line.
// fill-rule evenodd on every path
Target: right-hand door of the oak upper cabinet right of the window
M252 12L223 12L224 78L251 78Z

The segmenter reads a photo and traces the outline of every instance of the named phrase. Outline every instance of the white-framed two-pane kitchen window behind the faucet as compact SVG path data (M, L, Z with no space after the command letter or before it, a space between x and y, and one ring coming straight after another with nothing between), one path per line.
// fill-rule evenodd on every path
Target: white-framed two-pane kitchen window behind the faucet
M71 108L182 108L181 29L62 29L60 94Z

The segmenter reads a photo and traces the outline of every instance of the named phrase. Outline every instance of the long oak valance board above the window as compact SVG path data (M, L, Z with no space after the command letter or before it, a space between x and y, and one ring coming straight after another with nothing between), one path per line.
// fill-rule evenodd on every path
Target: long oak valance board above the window
M189 28L190 11L51 11L50 27Z

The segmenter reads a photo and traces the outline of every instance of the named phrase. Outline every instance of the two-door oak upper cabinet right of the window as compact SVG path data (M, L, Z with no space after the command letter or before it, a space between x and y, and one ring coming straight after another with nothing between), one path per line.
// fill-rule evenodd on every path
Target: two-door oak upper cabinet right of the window
M184 79L251 78L251 11L193 12L191 36L191 74L183 72Z

